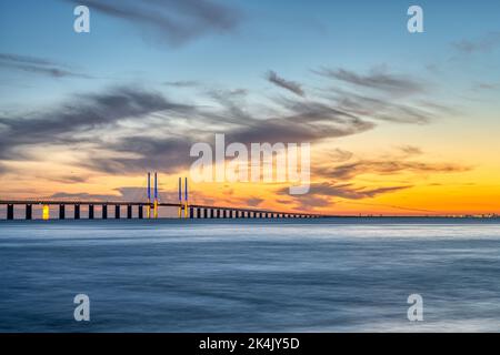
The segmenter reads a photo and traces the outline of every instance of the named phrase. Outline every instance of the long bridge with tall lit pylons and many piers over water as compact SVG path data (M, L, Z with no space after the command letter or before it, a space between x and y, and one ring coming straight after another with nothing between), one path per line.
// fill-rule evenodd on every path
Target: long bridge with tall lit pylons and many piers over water
M151 196L151 174L148 173L148 200L147 201L71 201L52 199L30 199L30 200L0 200L0 205L7 205L7 220L14 219L14 206L23 206L24 220L33 219L33 206L42 209L42 219L50 219L50 207L59 206L59 220L67 219L67 207L73 210L73 219L80 220L81 206L88 207L88 219L94 220L97 216L96 206L100 207L101 220L121 219L121 207L127 206L128 220L131 219L158 219L158 210L161 206L177 207L179 219L318 219L326 215L314 213L283 212L251 207L231 207L190 204L188 195L188 179L184 179L184 194L182 194L182 180L179 178L179 202L160 202L158 199L158 179L154 173L153 196ZM184 199L182 199L184 197ZM112 211L114 207L114 212ZM111 211L110 211L111 209ZM137 213L133 213L133 210ZM113 212L113 213L112 213ZM144 213L146 212L146 213Z

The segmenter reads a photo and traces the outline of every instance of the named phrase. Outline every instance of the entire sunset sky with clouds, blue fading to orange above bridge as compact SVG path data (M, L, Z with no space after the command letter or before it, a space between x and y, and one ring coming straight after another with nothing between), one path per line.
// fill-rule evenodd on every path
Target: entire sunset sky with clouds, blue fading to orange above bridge
M158 171L174 201L224 133L310 143L310 191L200 182L193 203L500 213L499 1L1 0L0 78L2 199L143 199Z

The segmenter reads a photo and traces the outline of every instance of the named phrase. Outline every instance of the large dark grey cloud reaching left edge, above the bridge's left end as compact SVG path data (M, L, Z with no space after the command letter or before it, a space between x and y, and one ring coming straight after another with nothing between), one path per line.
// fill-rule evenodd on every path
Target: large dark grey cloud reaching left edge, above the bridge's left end
M24 145L96 142L94 136L79 134L110 129L127 119L141 120L158 111L190 110L159 93L138 88L118 87L101 93L81 94L46 112L0 118L0 158L20 158L23 151L19 148Z

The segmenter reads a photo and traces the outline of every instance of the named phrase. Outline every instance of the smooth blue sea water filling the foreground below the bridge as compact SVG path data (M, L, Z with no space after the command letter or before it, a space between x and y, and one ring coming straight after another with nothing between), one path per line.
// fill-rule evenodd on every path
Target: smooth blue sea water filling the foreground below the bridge
M0 222L1 332L498 332L499 276L494 221Z

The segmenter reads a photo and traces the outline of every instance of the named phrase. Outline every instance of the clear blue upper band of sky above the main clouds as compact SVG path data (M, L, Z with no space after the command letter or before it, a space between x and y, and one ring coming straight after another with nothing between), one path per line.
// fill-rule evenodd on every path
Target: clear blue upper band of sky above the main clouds
M103 1L106 2L106 1ZM223 3L223 2L221 2ZM70 90L94 89L117 81L200 80L227 87L259 89L270 69L286 77L313 80L321 65L363 71L389 65L397 71L430 75L426 65L450 68L447 80L469 82L498 77L498 55L473 60L473 71L450 61L453 42L474 40L498 29L498 1L419 1L426 33L406 30L411 1L227 1L238 12L233 29L169 44L154 31L91 9L91 33L72 31L70 1L2 1L2 52L50 59L96 80L32 78L1 69L4 104L54 100ZM463 60L463 59L462 59ZM470 64L470 63L468 63ZM447 73L447 70L441 72ZM34 85L34 83L37 83ZM43 84L43 93L39 85ZM27 88L24 85L31 85ZM454 83L453 83L454 85Z

